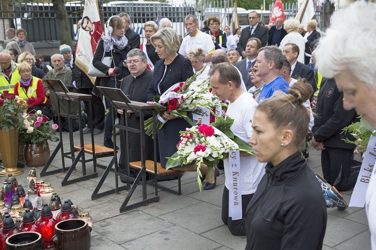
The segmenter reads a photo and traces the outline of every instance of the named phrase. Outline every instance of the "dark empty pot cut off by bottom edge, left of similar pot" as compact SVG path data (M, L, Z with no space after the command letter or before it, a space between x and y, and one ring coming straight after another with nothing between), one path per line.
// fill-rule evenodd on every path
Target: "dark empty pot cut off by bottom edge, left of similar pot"
M20 232L7 238L5 249L44 250L44 242L39 232Z

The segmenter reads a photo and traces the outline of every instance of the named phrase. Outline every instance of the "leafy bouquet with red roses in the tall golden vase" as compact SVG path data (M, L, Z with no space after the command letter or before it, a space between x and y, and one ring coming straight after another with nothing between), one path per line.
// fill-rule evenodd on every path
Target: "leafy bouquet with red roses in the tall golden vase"
M9 91L0 95L0 129L20 130L24 124L23 115L28 108L27 102Z

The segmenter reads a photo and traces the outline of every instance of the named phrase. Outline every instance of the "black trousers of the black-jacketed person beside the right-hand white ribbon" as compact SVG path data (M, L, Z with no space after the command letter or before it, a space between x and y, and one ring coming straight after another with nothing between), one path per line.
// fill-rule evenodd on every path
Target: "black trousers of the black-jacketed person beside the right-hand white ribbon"
M353 149L326 147L321 151L322 173L326 181L338 191L355 186L359 170L351 171Z

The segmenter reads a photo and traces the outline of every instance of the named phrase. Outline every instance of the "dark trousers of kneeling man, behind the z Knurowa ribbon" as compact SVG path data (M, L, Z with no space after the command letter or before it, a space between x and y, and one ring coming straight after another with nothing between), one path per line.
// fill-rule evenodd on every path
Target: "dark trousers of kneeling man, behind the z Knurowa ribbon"
M232 220L232 217L229 217L229 189L227 189L226 185L223 189L222 195L222 221L228 227L230 232L236 236L243 236L246 235L246 221L244 218L248 203L251 201L253 193L251 194L244 194L242 195L242 210L243 210L243 218Z

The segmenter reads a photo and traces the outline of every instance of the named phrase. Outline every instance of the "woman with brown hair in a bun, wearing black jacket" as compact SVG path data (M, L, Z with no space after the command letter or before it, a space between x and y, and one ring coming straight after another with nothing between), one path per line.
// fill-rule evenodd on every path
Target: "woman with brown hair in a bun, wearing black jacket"
M248 204L246 249L321 249L326 205L321 187L300 149L308 131L312 94L298 80L288 93L277 93L258 105L249 143L257 160L268 162Z

